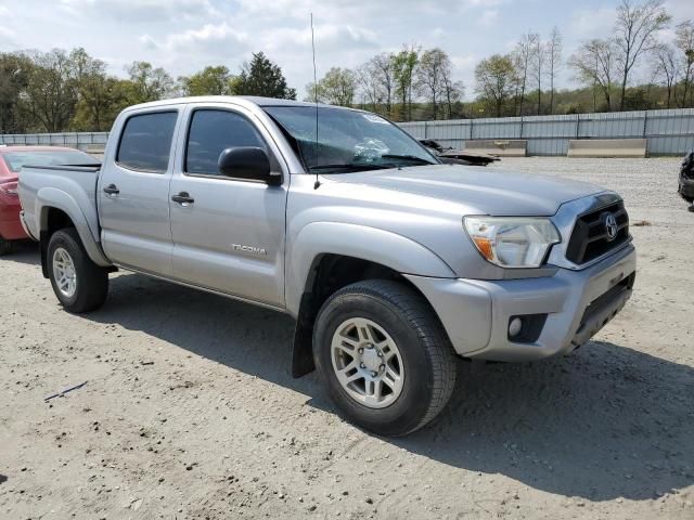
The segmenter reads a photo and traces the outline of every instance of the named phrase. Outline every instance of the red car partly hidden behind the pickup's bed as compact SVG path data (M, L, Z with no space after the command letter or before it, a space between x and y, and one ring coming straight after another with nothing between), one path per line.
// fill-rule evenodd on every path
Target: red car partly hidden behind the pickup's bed
M17 180L22 165L93 165L97 159L74 148L56 146L0 147L0 255L12 251L15 240L27 238L20 223Z

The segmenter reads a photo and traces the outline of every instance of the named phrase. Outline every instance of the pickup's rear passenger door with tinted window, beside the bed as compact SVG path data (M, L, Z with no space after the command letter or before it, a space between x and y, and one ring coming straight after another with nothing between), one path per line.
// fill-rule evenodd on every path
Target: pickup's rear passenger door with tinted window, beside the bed
M179 107L128 116L104 157L99 184L106 256L138 271L171 275L169 183Z

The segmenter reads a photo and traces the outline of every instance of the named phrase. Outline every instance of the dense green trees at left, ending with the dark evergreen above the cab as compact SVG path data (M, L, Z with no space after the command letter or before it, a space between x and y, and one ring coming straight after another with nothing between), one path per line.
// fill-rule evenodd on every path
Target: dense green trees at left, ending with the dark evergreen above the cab
M107 131L125 107L179 95L296 99L262 52L235 75L209 66L174 79L147 62L133 62L126 73L107 74L106 64L85 49L0 53L0 133Z

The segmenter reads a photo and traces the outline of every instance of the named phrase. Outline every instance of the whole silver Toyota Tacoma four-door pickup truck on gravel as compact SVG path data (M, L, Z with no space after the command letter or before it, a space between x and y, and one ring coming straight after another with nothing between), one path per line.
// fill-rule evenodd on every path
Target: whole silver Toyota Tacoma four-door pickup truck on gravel
M288 313L317 368L381 434L446 405L455 356L567 354L625 304L635 252L597 186L441 164L367 112L257 98L124 110L101 166L25 167L22 221L69 312L127 270Z

